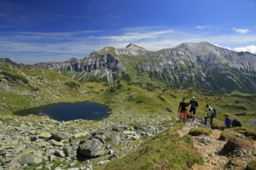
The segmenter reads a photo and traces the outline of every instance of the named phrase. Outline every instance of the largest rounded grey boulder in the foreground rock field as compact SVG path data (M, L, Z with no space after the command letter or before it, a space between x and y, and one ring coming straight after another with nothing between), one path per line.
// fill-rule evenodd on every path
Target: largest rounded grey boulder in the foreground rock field
M102 156L105 154L105 147L100 139L89 139L79 144L79 153L88 157Z

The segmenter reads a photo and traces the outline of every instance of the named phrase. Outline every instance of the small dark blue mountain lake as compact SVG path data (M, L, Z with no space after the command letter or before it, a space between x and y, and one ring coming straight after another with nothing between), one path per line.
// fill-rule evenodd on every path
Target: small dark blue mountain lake
M108 117L110 109L104 105L92 103L90 101L78 103L61 103L43 105L26 110L15 111L15 115L28 116L34 115L48 115L57 121L72 121L76 119L85 120L101 120Z

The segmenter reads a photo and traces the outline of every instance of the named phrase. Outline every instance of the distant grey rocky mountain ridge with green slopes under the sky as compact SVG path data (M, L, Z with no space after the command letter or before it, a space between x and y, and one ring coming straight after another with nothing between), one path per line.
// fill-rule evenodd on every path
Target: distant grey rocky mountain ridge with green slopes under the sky
M18 66L60 71L81 82L114 83L123 79L143 88L197 88L221 93L238 90L256 94L256 55L209 42L184 42L158 51L131 43L125 48L103 48L84 59Z

